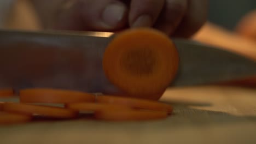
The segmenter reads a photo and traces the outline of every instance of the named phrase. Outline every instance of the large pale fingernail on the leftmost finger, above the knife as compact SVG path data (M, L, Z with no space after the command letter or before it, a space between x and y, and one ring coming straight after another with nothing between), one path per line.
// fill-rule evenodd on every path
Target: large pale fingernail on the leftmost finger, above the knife
M103 22L114 28L123 19L126 8L121 4L109 4L102 14Z

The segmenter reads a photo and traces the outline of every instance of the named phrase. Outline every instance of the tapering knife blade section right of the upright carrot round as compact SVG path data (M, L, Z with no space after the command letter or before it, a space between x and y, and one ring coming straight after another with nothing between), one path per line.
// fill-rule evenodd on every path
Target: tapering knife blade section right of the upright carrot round
M256 76L256 62L252 59L192 40L173 41L180 62L172 86L207 85Z

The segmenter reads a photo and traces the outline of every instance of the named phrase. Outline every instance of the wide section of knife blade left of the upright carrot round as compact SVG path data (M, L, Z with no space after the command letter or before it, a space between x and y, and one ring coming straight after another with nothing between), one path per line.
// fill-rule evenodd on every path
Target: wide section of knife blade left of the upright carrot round
M109 35L0 31L0 87L115 91L102 70Z

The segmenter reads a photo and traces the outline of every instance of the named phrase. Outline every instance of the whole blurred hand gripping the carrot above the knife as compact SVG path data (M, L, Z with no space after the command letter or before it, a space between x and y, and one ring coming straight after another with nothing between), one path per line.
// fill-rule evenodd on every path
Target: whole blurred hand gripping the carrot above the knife
M207 0L62 0L50 28L113 32L154 27L190 37L206 22L207 6Z

